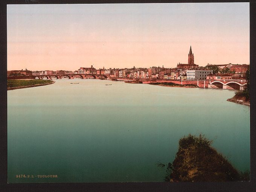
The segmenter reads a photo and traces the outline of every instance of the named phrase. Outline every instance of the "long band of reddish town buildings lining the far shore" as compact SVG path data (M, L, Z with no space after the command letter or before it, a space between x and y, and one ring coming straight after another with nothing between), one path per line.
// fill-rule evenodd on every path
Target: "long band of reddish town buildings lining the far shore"
M178 64L180 65L180 64ZM92 65L89 68L80 67L77 71L29 71L29 70L12 70L8 71L8 76L31 76L31 75L54 75L54 74L107 74L110 77L122 77L122 78L140 78L140 79L163 79L163 80L205 80L205 79L230 79L243 77L243 74L248 70L249 65L232 65L231 63L226 65L206 65L206 67L193 66L192 68L164 68L164 67L150 67L150 68L130 68L130 69L95 69ZM209 68L216 66L220 70L229 68L232 73L213 74L213 70ZM187 64L186 67L189 67Z

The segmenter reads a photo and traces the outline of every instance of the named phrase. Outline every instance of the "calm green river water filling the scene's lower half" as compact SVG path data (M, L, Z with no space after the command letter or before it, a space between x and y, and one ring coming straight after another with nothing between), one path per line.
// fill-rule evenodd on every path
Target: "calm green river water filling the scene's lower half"
M9 183L162 182L157 162L172 162L189 133L250 170L250 107L226 101L234 91L55 81L7 92Z

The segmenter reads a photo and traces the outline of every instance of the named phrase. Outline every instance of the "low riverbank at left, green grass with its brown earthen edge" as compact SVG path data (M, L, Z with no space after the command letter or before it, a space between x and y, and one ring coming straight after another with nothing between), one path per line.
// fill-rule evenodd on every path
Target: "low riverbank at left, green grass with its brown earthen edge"
M53 83L55 83L55 81L52 81L52 80L39 80L39 79L16 80L16 79L10 79L10 80L7 80L7 90L38 87L38 86L50 85L50 84L53 84Z

